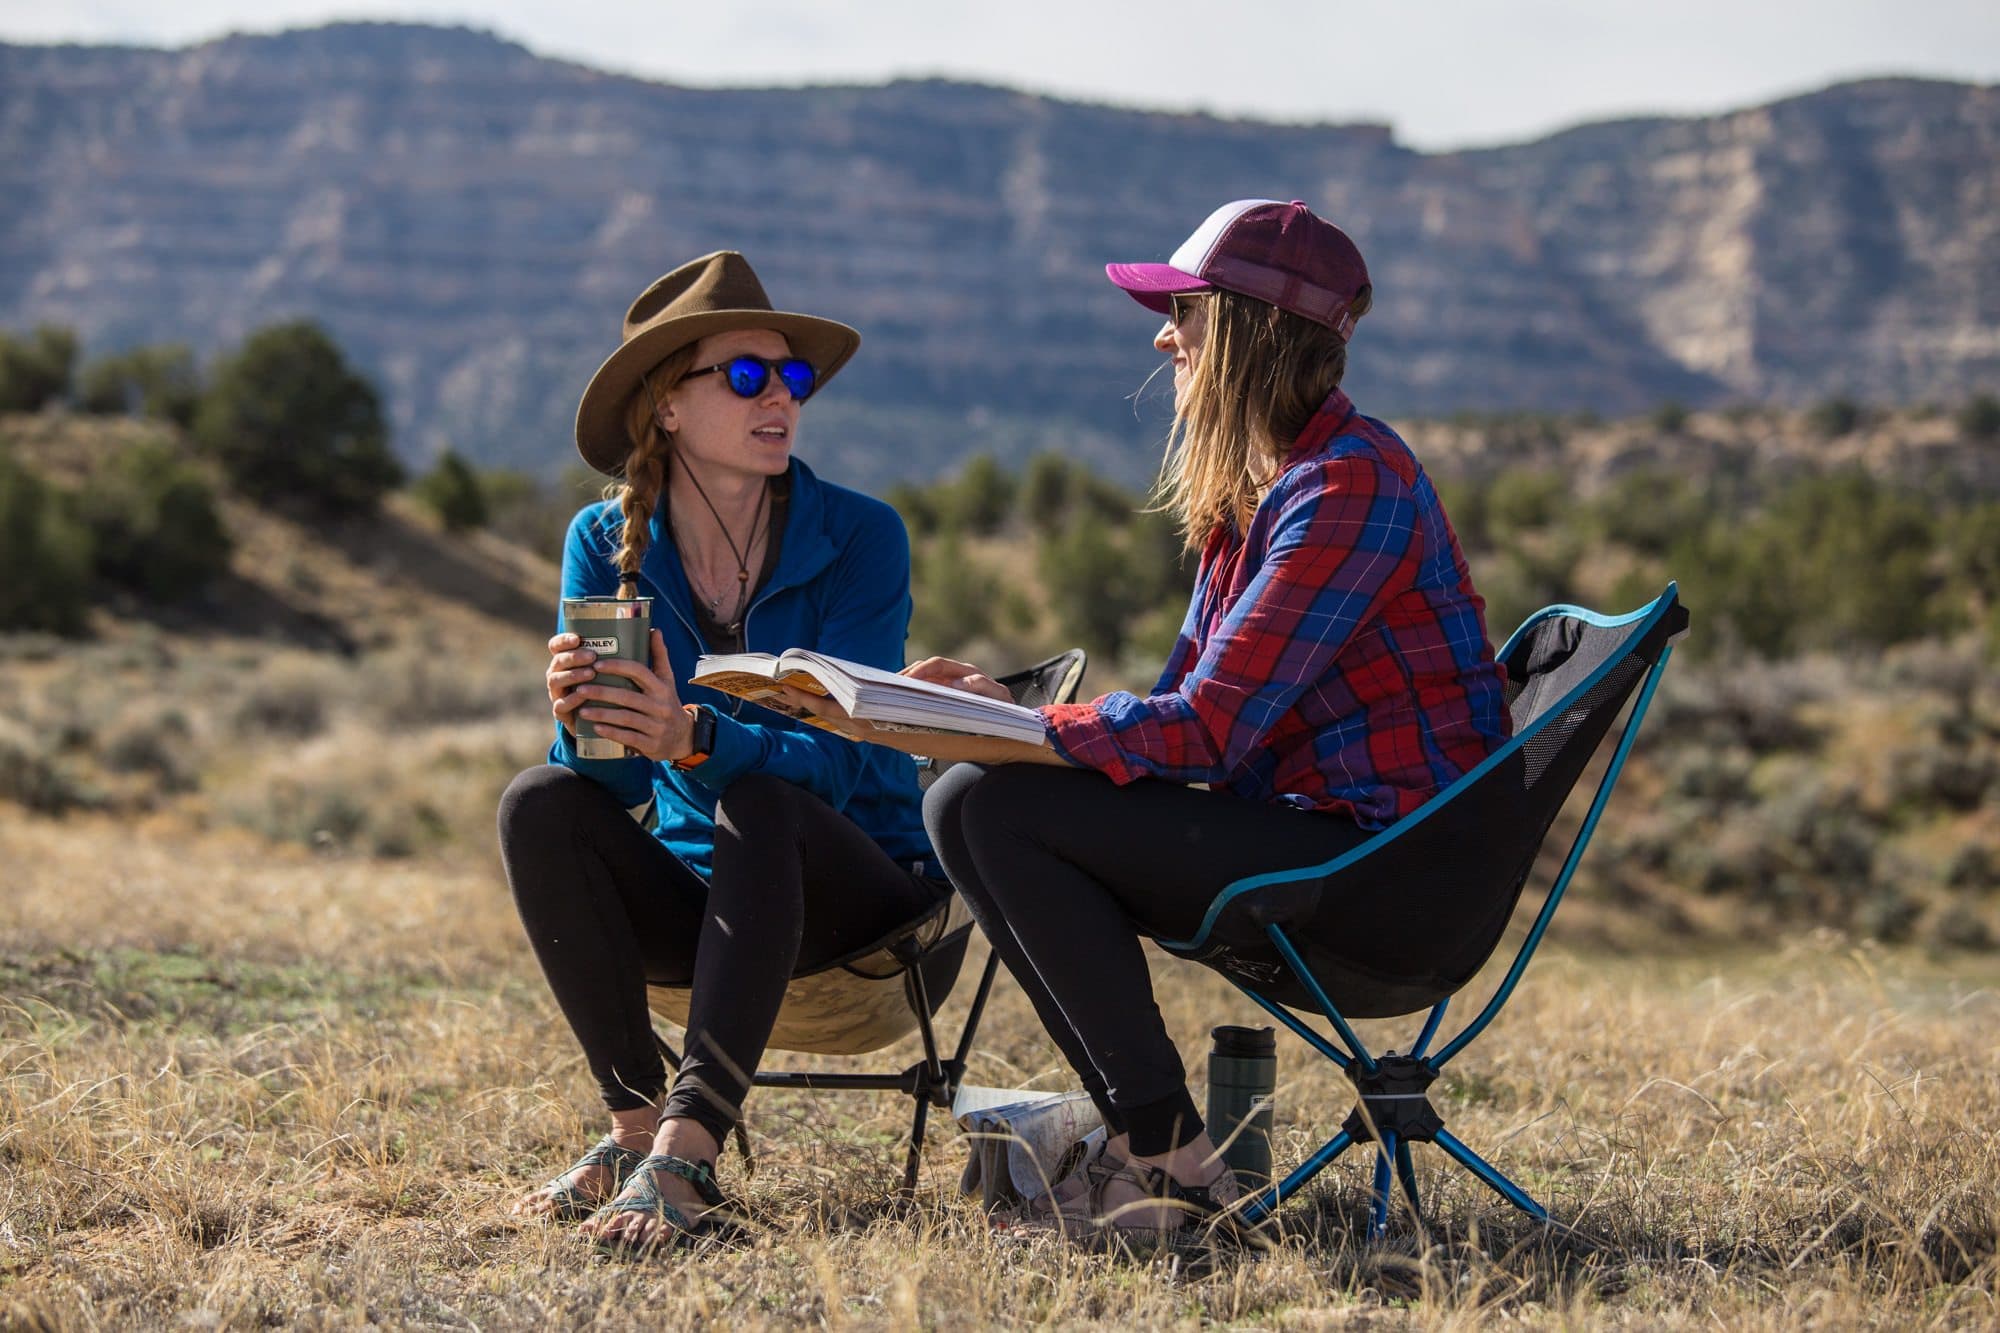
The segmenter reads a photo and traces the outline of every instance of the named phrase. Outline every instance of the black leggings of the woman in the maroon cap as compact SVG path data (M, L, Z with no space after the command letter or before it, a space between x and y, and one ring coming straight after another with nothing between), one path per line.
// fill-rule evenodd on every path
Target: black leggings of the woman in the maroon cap
M1046 765L956 765L924 797L944 871L1132 1151L1202 1133L1140 937L1188 939L1234 879L1368 839L1340 815Z

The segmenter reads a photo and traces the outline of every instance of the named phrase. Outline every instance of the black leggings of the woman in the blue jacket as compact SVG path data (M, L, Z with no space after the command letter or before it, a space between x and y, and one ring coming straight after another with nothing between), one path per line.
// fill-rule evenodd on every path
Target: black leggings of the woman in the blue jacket
M716 807L708 883L592 779L528 769L500 799L514 907L612 1111L660 1101L646 983L686 987L688 1051L662 1117L722 1141L794 971L864 949L946 887L890 861L812 793L760 773Z

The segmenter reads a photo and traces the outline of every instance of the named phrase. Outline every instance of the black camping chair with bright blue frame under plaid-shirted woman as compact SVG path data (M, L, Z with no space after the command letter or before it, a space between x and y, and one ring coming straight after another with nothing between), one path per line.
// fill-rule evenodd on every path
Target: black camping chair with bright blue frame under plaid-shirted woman
M1426 1089L1514 993L1632 753L1672 642L1686 628L1688 612L1676 584L1624 616L1580 606L1534 612L1500 648L1514 719L1514 737L1506 745L1360 847L1324 865L1240 879L1216 897L1192 939L1158 941L1168 953L1222 971L1306 1045L1340 1065L1358 1093L1340 1133L1254 1195L1244 1221L1264 1221L1328 1163L1366 1141L1376 1143L1370 1237L1388 1227L1392 1169L1410 1211L1420 1215L1412 1143L1436 1143L1502 1199L1536 1221L1548 1221L1548 1211L1520 1185L1444 1129ZM1450 997L1472 981L1500 943L1564 799L1634 693L1638 703L1618 749L1520 953L1478 1017L1428 1055ZM1478 895L1484 915L1440 929L1438 921L1448 921L1444 905L1462 903L1466 887L1484 889ZM1298 937L1308 923L1338 925L1340 903L1370 895L1396 903L1408 929L1370 939L1346 939L1338 931ZM1308 1027L1294 1009L1324 1015L1344 1045L1336 1047ZM1348 1025L1350 1017L1388 1019L1424 1009L1430 1015L1406 1055L1370 1055Z

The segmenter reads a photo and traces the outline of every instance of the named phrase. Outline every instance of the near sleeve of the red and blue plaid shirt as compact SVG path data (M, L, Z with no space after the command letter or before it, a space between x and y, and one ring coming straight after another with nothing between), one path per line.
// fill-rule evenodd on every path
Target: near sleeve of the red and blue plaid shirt
M1044 709L1050 743L1116 783L1224 783L1354 632L1418 568L1416 496L1368 454L1288 470L1266 496L1268 548L1194 669L1150 699ZM1212 570L1196 586L1200 602ZM1188 624L1196 616L1190 612ZM1176 644L1176 650L1182 644Z

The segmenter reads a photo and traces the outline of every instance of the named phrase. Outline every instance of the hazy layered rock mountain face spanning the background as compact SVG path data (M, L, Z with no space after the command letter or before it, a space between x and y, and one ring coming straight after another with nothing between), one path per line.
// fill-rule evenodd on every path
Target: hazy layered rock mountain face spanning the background
M880 484L976 448L1140 472L1156 324L1102 278L1304 198L1376 278L1382 414L2000 384L2000 92L1884 80L1460 154L998 88L690 90L464 30L0 46L0 324L90 350L324 320L406 454L568 456L626 302L706 250L844 318L808 444Z

